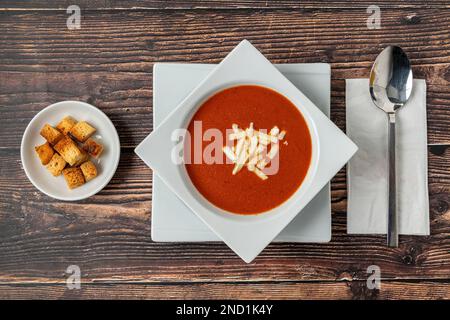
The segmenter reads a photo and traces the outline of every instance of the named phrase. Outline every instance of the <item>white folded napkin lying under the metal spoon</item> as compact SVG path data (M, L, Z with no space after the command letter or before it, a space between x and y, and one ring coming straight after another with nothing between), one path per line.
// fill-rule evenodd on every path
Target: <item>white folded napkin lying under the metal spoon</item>
M347 232L385 234L388 214L388 118L369 93L368 79L346 81L347 135L359 150L347 166ZM399 234L429 235L425 80L396 117Z

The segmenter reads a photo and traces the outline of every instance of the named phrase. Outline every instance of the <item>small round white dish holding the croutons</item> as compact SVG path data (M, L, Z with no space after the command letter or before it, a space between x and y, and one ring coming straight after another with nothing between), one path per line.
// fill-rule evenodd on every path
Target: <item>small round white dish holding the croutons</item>
M73 190L68 188L62 175L53 177L50 174L34 150L35 146L45 143L39 134L41 128L46 123L56 126L65 116L89 122L97 129L93 138L104 146L98 160L91 157L97 166L98 176ZM62 101L41 110L30 121L22 137L20 158L28 179L39 191L58 200L82 200L98 193L114 176L119 164L120 141L113 123L100 109L80 101Z

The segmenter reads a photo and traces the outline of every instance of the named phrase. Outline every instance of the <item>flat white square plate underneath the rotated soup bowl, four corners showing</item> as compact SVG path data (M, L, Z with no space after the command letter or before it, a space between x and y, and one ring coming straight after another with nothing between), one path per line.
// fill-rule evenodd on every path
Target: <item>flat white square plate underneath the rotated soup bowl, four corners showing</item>
M153 125L156 128L214 69L212 64L157 63L153 67ZM282 64L277 69L330 116L330 65ZM153 173L151 236L156 242L220 241ZM331 240L329 183L275 238L277 242Z

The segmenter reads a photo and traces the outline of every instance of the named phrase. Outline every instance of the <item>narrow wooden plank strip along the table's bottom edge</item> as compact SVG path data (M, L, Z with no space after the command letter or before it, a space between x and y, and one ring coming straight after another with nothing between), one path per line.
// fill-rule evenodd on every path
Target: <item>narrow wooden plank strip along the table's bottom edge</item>
M365 281L288 283L0 285L0 299L450 299L448 282L383 281L370 290Z

